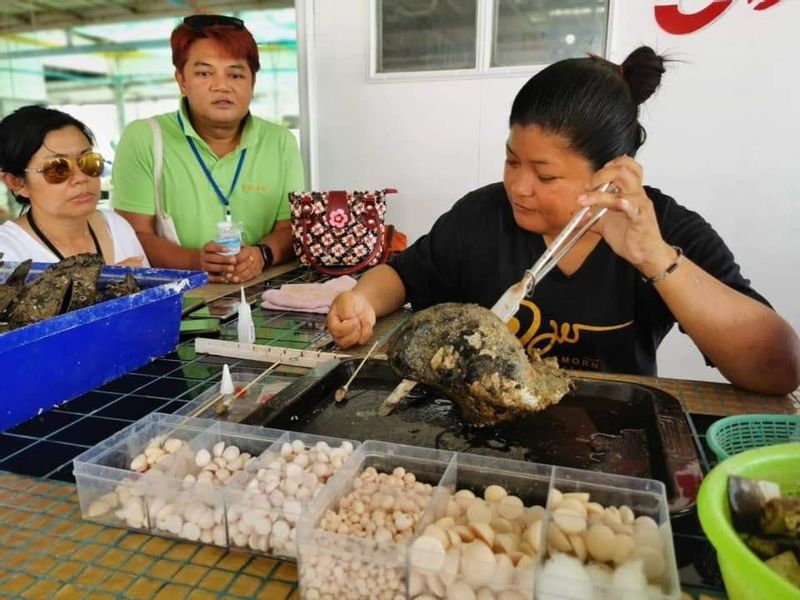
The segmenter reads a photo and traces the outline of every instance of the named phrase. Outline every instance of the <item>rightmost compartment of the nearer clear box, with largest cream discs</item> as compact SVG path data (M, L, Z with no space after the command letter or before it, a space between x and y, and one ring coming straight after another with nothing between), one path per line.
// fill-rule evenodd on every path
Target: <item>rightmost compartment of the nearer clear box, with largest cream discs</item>
M586 495L584 521L567 499L581 502ZM660 481L554 467L543 532L537 597L577 600L586 597L585 590L593 598L680 597L666 489ZM584 564L583 572L567 575L576 562Z

